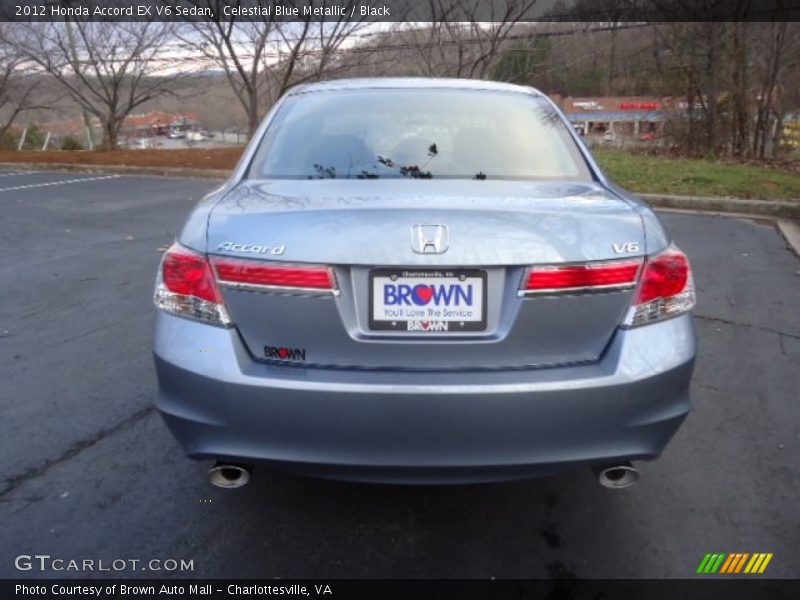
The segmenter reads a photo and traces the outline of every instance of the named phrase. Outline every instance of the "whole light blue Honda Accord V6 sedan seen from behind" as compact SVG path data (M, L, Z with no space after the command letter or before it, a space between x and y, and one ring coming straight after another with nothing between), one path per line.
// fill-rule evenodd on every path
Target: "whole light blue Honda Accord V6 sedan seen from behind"
M654 213L536 90L304 85L164 255L156 404L225 487L256 463L624 487L689 411L694 302Z

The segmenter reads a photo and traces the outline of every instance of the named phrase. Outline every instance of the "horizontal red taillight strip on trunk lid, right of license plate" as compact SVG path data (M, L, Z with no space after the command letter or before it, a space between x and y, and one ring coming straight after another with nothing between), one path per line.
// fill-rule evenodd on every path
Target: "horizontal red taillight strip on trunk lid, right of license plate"
M632 288L641 260L546 265L531 267L525 274L520 295L600 292Z

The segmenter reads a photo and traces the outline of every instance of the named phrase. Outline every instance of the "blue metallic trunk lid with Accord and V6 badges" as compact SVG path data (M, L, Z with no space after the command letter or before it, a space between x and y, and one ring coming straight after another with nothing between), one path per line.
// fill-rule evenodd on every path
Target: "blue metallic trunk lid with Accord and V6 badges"
M415 251L418 225L445 226L446 251ZM211 255L334 268L335 295L223 286L255 358L319 367L458 370L596 360L631 290L523 298L527 268L641 257L643 248L630 204L598 184L559 182L249 181L218 203L208 227ZM373 276L476 270L485 286L478 330L370 322Z

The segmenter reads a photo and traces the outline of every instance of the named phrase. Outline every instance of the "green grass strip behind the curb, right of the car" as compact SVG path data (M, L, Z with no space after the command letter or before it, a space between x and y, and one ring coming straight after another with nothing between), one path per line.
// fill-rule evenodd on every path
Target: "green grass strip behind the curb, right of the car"
M788 171L611 150L595 150L593 154L615 183L632 192L800 200L800 175Z

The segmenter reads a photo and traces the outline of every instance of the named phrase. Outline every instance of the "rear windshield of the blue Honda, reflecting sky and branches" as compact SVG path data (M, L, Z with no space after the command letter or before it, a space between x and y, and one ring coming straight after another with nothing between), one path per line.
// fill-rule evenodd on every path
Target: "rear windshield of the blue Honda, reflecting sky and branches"
M255 179L591 179L545 100L481 90L368 89L291 97Z

